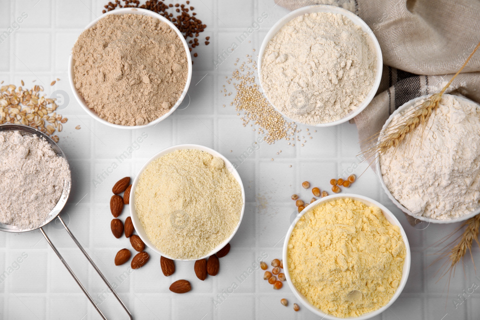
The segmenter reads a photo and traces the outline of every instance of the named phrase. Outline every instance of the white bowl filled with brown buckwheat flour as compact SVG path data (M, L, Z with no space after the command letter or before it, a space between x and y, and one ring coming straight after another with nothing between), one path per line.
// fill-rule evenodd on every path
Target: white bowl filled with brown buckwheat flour
M192 58L158 13L122 8L86 26L72 48L69 81L80 106L110 127L139 129L172 114L187 94Z

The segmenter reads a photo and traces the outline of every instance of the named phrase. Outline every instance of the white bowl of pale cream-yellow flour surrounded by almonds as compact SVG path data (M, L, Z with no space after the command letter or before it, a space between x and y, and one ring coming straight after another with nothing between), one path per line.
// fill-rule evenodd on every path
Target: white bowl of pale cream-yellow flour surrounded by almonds
M245 190L222 154L180 144L155 154L130 192L130 215L145 245L178 261L207 258L225 247L245 211Z

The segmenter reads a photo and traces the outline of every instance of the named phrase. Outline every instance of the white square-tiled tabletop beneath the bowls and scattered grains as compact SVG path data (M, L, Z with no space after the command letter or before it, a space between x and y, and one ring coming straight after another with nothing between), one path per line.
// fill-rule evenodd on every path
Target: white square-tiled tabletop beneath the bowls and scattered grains
M287 11L274 6L273 0L191 0L197 17L208 25L200 42L204 41L204 36L211 36L209 46L196 49L199 57L194 58L189 90L191 103L153 129L129 131L113 130L91 119L74 101L67 82L69 52L84 26L101 14L106 2L0 0L0 33L22 12L28 14L18 30L0 43L0 81L19 84L24 80L25 86L30 87L36 79L36 84L46 84L47 94L60 89L70 96L70 104L61 111L69 122L59 136L60 146L72 166L72 193L62 213L72 232L88 248L108 280L118 285L117 291L135 319L315 319L306 308L294 312L291 305L298 301L288 286L272 290L271 285L264 282L262 271L250 274L241 283L236 277L263 253L268 254L267 261L280 257L282 237L294 209L290 195L300 192L302 181L309 180L313 185L326 188L330 178L357 161L355 155L360 149L356 127L352 124L318 129L316 133L311 130L313 139L304 147L291 147L285 141L274 145L263 143L240 165L239 173L247 196L245 215L239 232L231 241L232 249L222 259L216 277L201 282L193 273L193 262L184 262L177 263L176 273L166 278L160 271L159 256L150 250L151 260L141 270L120 280L128 266L116 267L113 257L119 249L130 248L130 244L124 237L115 239L109 227L112 217L108 201L112 185L124 176L133 177L144 162L161 149L179 143L199 143L235 161L235 156L254 141L255 133L242 127L240 117L229 107L233 96L224 97L219 91L225 84L225 76L235 68L234 60L244 59L245 54L252 53L252 48L258 49L268 28ZM260 30L250 36L252 42L241 44L215 69L212 59L222 49L230 47L235 36L245 31L262 12L267 12L268 18ZM49 83L57 77L61 81L50 87ZM223 104L227 107L223 108ZM82 129L75 130L76 125L81 125ZM301 126L302 133L306 128ZM140 148L95 188L92 180L143 131L148 138ZM276 155L278 150L282 153ZM275 160L271 161L271 158ZM355 173L359 175L364 169L365 165L361 165ZM450 282L448 300L446 278L436 282L438 276L435 272L440 264L430 266L436 257L432 254L437 249L444 249L432 245L457 225L429 225L424 230L411 227L403 213L384 195L370 169L349 191L369 196L391 209L404 226L412 250L407 286L396 303L375 319L478 319L479 289L457 308L453 302L453 298L472 283L480 284L469 257L463 266L458 265L456 276ZM301 194L304 199L311 197L309 192ZM124 220L127 215L128 208L120 218ZM105 294L106 286L67 233L54 223L49 224L46 231L89 292L97 301L105 300L101 308L109 319L126 319L113 296ZM476 261L479 261L478 251L475 248ZM28 256L20 268L0 284L0 319L100 319L40 232L0 233L0 272L8 270L22 253ZM465 267L466 277L462 267ZM191 292L175 295L168 291L171 282L183 278L192 282ZM216 306L217 294L230 288L233 282L239 287ZM279 303L283 297L290 301L288 308Z

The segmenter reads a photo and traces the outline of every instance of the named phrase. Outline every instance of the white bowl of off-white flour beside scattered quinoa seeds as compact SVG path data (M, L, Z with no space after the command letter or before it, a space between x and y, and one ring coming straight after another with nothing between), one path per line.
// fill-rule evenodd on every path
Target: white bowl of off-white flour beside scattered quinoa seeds
M382 64L380 45L363 20L336 6L312 5L270 29L260 47L258 77L284 117L335 126L372 101Z

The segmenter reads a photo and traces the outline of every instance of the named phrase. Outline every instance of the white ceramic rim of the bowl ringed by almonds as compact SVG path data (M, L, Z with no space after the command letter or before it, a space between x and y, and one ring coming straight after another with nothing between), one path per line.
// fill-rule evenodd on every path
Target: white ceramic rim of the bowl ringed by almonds
M230 237L225 239L221 244L219 244L215 249L210 251L207 255L205 255L203 257L198 257L198 258L195 258L195 259L188 259L188 260L174 259L172 257L169 257L167 254L163 253L162 251L160 251L158 248L156 248L156 246L152 243L152 241L150 241L150 239L148 239L148 237L145 233L145 230L142 226L142 223L140 222L140 219L138 218L137 213L135 211L135 188L137 187L140 175L145 170L145 168L152 161L164 156L165 154L169 154L173 151L183 150L183 149L195 149L195 150L205 151L205 152L207 152L207 153L209 153L213 156L221 158L224 161L225 166L227 167L228 171L233 175L233 177L239 183L240 189L241 189L242 201L243 201L243 204L242 204L242 207L241 207L239 223L238 223L237 227L235 228L235 230L233 230ZM241 223L241 220L243 218L243 213L244 212L245 212L245 189L243 188L243 183L241 182L241 178L240 178L240 175L238 174L237 170L233 167L233 165L230 163L230 161L228 161L228 159L223 154L220 154L213 149L210 149L208 147L205 147L205 146L199 145L199 144L178 144L178 145L174 145L174 146L168 147L166 149L163 149L159 153L155 154L140 169L140 172L138 173L138 175L133 180L132 190L130 192L130 216L132 217L132 223L133 223L133 226L135 227L135 231L137 232L138 236L144 241L145 245L147 245L148 248L154 250L158 254L160 254L160 255L168 258L168 259L177 260L177 261L195 261L195 260L204 259L204 258L207 258L207 257L211 256L212 254L216 253L218 250L222 249L223 247L225 247L228 244L228 242L230 242L230 240L233 238L233 236L235 236L235 233L237 233L237 230L240 227L240 223Z

